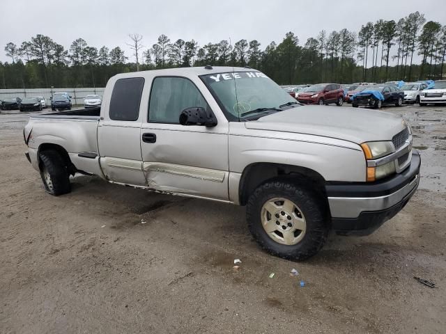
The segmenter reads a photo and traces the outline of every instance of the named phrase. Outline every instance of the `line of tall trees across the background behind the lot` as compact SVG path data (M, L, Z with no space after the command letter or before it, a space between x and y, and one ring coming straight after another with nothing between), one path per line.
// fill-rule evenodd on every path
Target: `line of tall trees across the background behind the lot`
M323 30L303 45L293 32L264 48L258 40L200 46L164 34L151 47L143 42L142 35L129 35L132 61L121 47L98 49L82 38L69 49L40 34L20 46L8 42L4 50L10 61L0 62L0 88L103 87L120 72L208 64L249 66L279 84L443 79L446 26L415 12L397 22L367 22L357 33ZM421 63L414 63L414 55Z

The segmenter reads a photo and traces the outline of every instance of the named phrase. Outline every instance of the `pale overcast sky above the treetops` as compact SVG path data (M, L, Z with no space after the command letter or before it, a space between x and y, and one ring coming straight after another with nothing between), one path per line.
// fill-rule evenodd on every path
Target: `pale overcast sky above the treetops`
M446 24L446 0L0 0L0 61L10 61L3 51L7 42L19 46L38 33L66 49L84 38L98 48L119 46L129 57L129 33L143 35L146 47L164 33L171 41L193 38L199 45L256 39L263 49L287 31L303 45L322 29L358 31L368 21L397 21L416 10Z

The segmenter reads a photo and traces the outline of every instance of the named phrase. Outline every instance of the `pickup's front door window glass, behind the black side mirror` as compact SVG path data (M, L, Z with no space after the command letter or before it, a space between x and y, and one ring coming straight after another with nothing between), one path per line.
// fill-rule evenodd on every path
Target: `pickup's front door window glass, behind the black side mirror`
M148 106L148 122L179 124L184 109L209 106L197 86L181 77L157 77L153 80Z

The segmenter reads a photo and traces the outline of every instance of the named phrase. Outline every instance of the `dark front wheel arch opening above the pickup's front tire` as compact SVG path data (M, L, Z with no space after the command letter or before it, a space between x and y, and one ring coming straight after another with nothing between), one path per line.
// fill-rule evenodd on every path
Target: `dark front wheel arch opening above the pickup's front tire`
M240 205L246 205L249 196L261 184L279 177L289 178L305 186L311 186L314 191L325 198L328 204L325 179L316 170L302 166L258 162L246 166L240 177L238 185Z

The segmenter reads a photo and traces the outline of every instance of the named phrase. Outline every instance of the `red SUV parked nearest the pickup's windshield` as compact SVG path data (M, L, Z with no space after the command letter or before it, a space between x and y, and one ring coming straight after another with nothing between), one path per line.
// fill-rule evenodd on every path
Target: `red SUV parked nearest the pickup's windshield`
M299 93L298 101L303 104L330 104L341 106L344 103L344 89L339 84L317 84Z

